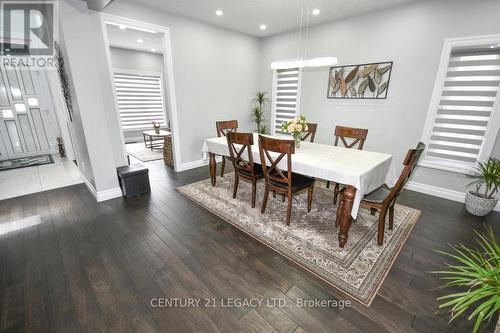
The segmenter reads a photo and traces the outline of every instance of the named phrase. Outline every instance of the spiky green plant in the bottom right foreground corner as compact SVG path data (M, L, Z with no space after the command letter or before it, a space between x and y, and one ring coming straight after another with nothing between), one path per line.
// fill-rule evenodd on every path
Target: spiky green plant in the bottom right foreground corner
M450 322L461 315L475 319L475 333L500 310L500 245L491 227L484 234L474 232L477 249L461 244L452 246L450 253L438 251L455 263L432 273L442 275L440 279L447 281L441 288L462 289L439 297L437 300L443 302L439 308L450 308Z

